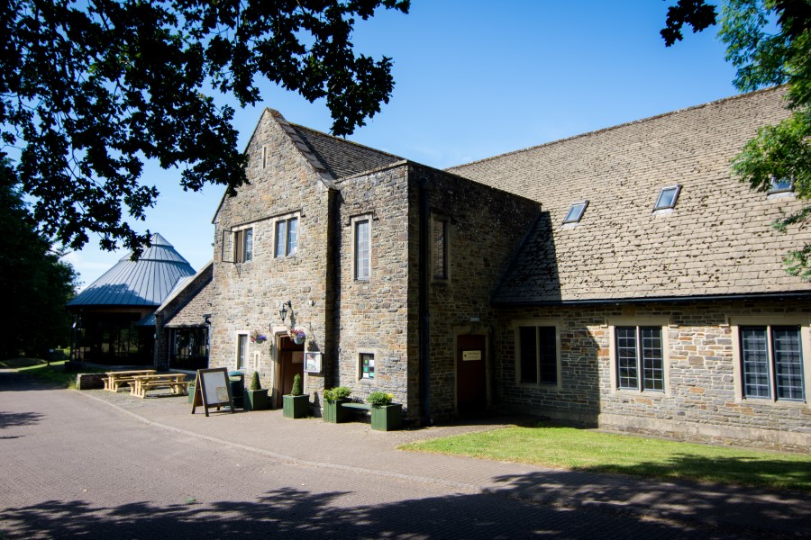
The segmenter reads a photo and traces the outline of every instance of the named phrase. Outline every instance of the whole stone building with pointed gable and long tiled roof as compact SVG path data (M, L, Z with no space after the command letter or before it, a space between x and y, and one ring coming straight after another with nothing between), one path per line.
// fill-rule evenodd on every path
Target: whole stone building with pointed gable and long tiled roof
M811 284L781 258L811 235L770 227L801 207L790 181L730 175L782 96L445 171L265 110L214 218L210 364L277 403L304 374L315 413L341 384L423 424L506 408L809 448Z

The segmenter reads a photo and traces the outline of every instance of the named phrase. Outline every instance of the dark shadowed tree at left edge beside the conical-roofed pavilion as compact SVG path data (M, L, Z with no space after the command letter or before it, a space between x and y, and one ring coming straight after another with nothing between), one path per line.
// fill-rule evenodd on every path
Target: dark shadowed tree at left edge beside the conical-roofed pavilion
M77 276L38 232L11 173L7 162L0 163L0 358L47 358L50 348L68 346L65 304L73 298Z

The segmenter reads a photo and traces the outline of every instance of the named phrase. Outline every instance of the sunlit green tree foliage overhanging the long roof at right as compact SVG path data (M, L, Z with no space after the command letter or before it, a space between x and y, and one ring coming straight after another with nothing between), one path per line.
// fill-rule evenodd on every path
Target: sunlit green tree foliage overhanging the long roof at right
M681 39L683 23L701 31L710 19L715 23L715 16L715 6L704 0L679 0L670 7L662 38L670 45ZM761 192L769 191L775 179L790 179L798 199L811 199L811 2L725 0L719 22L726 59L737 68L734 85L742 92L786 85L792 110L786 120L762 127L746 143L734 157L734 175ZM805 206L775 227L805 227L809 219L811 207ZM811 280L811 245L792 251L785 260L789 274Z

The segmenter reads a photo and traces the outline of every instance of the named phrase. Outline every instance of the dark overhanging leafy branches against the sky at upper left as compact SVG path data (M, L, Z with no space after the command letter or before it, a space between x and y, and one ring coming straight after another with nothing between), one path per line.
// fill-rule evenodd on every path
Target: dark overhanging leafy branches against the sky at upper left
M0 158L48 236L140 254L158 190L145 160L180 168L184 189L246 182L233 109L258 78L325 99L333 133L380 111L391 59L352 50L355 19L408 0L8 0L0 5Z

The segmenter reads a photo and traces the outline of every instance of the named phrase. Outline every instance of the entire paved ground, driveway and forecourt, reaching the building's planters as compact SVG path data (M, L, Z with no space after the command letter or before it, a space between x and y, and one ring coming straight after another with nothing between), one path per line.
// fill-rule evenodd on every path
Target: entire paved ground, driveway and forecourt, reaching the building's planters
M763 537L601 511L608 508L597 504L593 479L579 486L586 499L592 493L591 508L515 500L546 493L555 502L555 483L574 498L574 482L585 477L393 449L453 429L380 434L362 424L279 419L276 411L205 419L189 415L179 398L53 390L0 373L0 532L9 539ZM602 488L616 492L613 481Z

